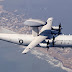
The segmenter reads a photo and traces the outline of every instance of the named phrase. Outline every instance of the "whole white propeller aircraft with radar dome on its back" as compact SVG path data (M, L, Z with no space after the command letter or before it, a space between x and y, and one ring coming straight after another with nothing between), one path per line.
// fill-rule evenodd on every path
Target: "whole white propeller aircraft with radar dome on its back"
M32 48L44 47L72 47L72 35L62 35L61 24L52 26L53 18L48 18L47 22L29 19L24 22L25 25L32 27L32 34L7 34L0 33L0 40L27 46L23 54L29 52ZM39 27L42 27L39 31Z

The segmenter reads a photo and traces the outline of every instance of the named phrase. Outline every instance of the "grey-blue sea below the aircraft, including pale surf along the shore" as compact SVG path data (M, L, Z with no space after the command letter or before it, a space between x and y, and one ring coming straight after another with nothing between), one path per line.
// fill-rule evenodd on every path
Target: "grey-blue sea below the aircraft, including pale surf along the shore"
M67 72L61 62L33 49L24 55L23 46L0 41L0 72Z

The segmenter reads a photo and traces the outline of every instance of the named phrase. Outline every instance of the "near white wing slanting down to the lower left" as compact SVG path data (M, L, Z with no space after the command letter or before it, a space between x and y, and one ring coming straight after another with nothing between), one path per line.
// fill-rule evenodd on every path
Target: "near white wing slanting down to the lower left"
M34 48L36 45L38 45L40 42L45 40L47 36L37 36L28 46L27 48L22 52L23 54L26 54L28 51L30 51L32 48Z

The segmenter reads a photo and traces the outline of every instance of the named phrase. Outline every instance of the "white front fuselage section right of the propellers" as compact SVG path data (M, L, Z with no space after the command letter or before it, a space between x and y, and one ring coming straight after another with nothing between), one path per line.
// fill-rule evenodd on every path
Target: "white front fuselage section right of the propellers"
M72 47L72 35L59 35L54 42L54 47Z

